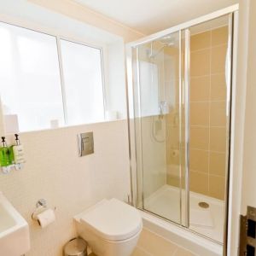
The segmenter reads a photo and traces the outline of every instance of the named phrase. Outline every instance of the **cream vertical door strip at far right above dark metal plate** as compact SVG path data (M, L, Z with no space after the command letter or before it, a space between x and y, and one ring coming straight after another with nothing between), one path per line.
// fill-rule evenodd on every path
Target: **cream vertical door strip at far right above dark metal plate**
M256 2L249 1L247 96L244 130L243 182L241 212L256 207Z

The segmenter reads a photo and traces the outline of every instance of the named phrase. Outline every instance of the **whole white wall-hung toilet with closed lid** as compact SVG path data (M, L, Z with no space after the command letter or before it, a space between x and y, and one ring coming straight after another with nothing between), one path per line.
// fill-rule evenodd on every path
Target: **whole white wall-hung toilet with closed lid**
M97 256L130 256L143 230L140 213L115 198L74 217L78 234Z

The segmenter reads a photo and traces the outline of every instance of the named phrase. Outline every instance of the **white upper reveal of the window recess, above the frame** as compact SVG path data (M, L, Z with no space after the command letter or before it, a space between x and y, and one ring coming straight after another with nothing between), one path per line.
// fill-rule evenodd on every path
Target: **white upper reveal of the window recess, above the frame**
M76 37L80 41L96 44L99 47L118 38L123 39L102 30L101 27L91 26L26 0L0 0L0 18L1 21L7 23L16 22L20 26L32 26L32 29L35 30L42 30L43 28L48 33L58 33L58 35L65 35L67 38L75 39L74 37Z

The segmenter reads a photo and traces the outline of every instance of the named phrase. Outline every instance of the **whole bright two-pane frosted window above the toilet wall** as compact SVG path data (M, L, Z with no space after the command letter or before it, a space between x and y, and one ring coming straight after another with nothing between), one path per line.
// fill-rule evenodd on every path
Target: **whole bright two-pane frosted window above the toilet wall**
M0 22L0 56L3 114L19 131L104 120L101 49Z

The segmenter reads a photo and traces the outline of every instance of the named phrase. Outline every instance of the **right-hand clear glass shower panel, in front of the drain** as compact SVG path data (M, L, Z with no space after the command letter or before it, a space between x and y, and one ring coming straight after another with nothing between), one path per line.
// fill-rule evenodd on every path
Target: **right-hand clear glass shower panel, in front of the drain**
M219 242L224 240L229 156L230 18L224 15L189 28L189 228Z

